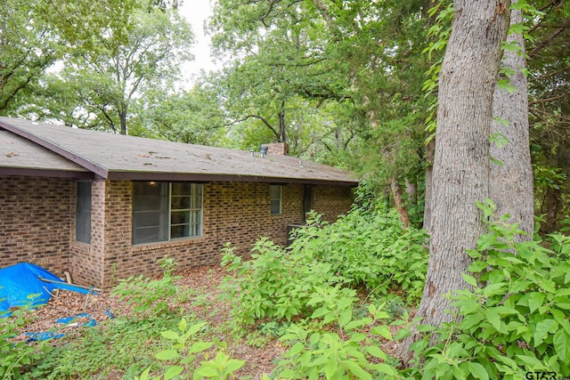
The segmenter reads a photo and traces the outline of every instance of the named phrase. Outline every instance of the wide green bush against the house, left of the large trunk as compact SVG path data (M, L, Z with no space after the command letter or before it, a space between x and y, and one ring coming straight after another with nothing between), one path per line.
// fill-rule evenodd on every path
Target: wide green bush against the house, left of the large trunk
M421 296L428 265L425 235L403 230L395 211L355 207L333 224L314 215L294 238L288 248L259 239L248 261L224 247L222 265L233 273L225 294L234 303L235 319L251 325L308 316L314 293L339 285L380 296L398 292L407 302Z

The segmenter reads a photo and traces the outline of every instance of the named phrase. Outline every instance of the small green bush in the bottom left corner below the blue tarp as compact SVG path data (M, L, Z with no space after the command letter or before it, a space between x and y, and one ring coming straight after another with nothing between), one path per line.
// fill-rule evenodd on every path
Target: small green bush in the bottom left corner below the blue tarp
M21 378L50 351L45 341L27 343L15 340L29 322L27 307L10 311L10 316L0 313L0 378ZM4 315L3 315L4 314Z

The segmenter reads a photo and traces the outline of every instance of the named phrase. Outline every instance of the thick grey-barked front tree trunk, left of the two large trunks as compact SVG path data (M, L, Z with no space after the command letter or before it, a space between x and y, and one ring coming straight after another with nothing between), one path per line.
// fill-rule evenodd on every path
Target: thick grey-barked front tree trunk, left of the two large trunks
M489 137L509 0L455 0L452 34L440 72L432 184L429 263L418 316L438 326L454 319L445 295L467 287L461 277L484 232L476 201L489 196ZM402 346L409 358L411 340Z

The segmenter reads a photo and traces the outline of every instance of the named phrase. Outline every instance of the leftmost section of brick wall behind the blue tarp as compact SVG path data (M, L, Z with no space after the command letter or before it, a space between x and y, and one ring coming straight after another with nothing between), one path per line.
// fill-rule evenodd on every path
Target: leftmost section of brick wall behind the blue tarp
M0 177L0 268L36 263L61 276L69 269L75 181Z

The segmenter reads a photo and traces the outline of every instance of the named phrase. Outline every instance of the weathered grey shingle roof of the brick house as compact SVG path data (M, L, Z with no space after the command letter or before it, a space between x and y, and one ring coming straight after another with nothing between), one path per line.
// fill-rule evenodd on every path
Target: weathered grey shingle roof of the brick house
M256 154L251 157L250 152L244 150L95 132L10 117L0 117L0 128L13 133L12 140L20 141L21 150L21 154L12 150L16 156L0 158L0 173L10 164L9 167L28 169L50 166L61 171L84 168L111 180L304 182L349 186L358 183L344 170L305 160L299 165L299 158L289 156L259 158ZM17 136L28 141L21 141ZM0 144L10 138L5 132L1 133ZM0 150L2 153L4 150ZM64 163L61 158L68 162Z

